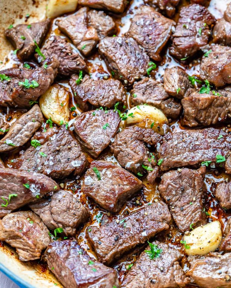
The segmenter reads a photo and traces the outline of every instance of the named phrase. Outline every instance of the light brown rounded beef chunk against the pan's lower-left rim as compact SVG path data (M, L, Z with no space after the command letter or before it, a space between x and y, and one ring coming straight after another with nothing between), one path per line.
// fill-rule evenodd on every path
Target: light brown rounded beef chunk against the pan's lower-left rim
M49 230L31 211L19 211L0 220L0 240L16 248L21 261L39 259L51 242Z

